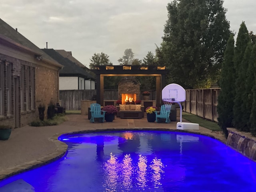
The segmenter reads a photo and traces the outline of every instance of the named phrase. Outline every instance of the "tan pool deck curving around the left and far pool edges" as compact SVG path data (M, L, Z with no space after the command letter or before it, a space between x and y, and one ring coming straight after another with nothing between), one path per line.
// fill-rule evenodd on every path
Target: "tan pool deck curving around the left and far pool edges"
M0 180L13 174L46 164L60 158L66 152L67 146L58 140L58 136L69 132L108 130L108 129L165 129L176 130L176 122L152 123L147 122L146 116L142 119L115 118L113 122L90 123L85 115L66 115L68 121L57 126L32 127L24 126L12 130L8 140L0 140ZM182 122L187 122L182 120ZM184 131L183 131L184 132ZM204 134L226 143L223 134L212 132L203 127L199 130L187 132Z

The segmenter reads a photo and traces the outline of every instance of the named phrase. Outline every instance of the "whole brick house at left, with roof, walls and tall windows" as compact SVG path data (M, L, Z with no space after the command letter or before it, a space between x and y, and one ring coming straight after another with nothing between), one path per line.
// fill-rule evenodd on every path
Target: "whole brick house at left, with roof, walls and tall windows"
M58 62L0 19L0 124L39 120L38 106L59 100ZM45 111L45 116L46 116Z

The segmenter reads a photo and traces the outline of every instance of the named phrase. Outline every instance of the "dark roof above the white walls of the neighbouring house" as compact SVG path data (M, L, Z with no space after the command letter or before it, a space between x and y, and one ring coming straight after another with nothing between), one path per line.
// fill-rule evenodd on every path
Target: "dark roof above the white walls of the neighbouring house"
M58 61L64 67L60 70L60 76L78 76L85 79L94 79L90 74L83 70L80 66L76 65L74 62L68 58L64 58L54 49L42 49L46 54L51 56L54 60Z

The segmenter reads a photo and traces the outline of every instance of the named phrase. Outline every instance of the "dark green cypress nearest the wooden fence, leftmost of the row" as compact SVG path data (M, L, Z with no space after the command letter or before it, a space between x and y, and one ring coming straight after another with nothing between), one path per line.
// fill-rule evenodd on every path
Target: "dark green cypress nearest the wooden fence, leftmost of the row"
M222 62L222 68L220 72L220 87L221 92L218 96L218 125L223 130L227 137L227 127L233 127L232 121L234 118L233 106L235 95L234 84L234 36L230 35L228 39L227 47L224 52L224 60Z

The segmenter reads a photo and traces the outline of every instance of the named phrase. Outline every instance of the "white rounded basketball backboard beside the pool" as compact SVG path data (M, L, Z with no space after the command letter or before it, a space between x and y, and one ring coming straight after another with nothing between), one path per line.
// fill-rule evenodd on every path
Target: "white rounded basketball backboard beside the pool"
M162 100L168 102L183 102L186 100L186 90L178 84L168 84L162 90Z

